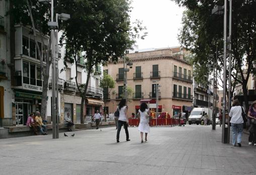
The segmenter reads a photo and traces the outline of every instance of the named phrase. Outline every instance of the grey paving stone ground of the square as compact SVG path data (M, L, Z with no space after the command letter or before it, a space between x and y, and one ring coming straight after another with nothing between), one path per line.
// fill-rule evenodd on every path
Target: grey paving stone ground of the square
M137 127L114 127L0 139L0 174L256 174L256 146L221 143L221 128L151 127L140 143ZM74 137L70 135L75 133ZM230 137L231 138L231 137Z

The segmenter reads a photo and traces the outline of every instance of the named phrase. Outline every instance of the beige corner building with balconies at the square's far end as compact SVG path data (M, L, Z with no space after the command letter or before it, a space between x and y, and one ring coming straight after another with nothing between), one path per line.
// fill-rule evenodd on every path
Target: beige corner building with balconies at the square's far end
M156 86L158 88L158 111L168 112L170 116L192 106L192 66L184 59L185 50L177 48L155 49L147 52L127 54L133 63L127 72L127 85L133 89L128 102L128 116L137 113L142 101L149 108L156 109ZM124 64L120 59L117 64L110 63L104 71L116 80L116 86L110 94L104 94L109 113L116 110L122 98L124 86Z

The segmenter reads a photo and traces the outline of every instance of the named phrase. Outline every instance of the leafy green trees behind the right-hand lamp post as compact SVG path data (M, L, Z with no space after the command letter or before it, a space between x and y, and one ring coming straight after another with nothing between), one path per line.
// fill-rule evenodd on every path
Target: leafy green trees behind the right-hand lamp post
M183 46L190 49L194 54L195 78L200 80L200 76L202 77L203 74L212 71L213 58L209 58L208 55L214 54L214 57L216 56L216 46L219 48L217 57L218 70L220 71L223 67L223 16L212 15L211 11L216 5L223 5L224 2L222 0L173 1L187 9L184 12L183 28L179 40ZM256 72L253 66L256 61L255 9L255 1L232 1L231 48L233 54L231 76L236 81L235 83L242 84L246 110L248 110L247 82L249 75ZM243 67L247 68L245 73ZM219 76L221 75L219 73ZM228 75L228 70L226 75ZM221 78L223 78L223 75Z

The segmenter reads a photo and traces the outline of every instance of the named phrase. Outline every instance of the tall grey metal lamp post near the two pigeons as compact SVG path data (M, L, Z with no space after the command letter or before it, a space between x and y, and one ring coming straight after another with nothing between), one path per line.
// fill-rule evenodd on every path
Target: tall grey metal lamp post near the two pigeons
M39 0L39 3L43 5L51 4L51 21L48 22L48 26L51 29L51 58L52 58L52 138L59 138L58 131L58 101L56 104L56 98L58 99L58 74L56 74L56 58L58 58L58 17L62 21L67 21L70 19L70 15L68 14L56 14L56 22L54 22L54 11L53 11L53 0ZM54 33L54 30L55 33ZM58 67L58 66L57 66Z

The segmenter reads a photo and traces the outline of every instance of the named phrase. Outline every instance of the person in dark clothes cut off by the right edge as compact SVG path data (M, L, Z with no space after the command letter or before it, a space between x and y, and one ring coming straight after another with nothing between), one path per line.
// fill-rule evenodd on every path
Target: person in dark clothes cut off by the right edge
M248 119L250 120L249 126L249 145L256 146L256 101L251 104L248 114Z

